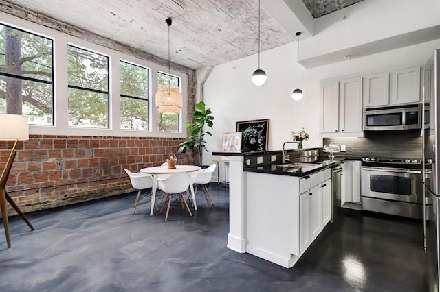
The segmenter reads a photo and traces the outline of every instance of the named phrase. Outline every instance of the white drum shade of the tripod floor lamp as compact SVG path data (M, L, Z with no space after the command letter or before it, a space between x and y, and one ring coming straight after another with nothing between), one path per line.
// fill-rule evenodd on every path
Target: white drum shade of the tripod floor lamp
M0 140L29 140L28 117L0 114Z

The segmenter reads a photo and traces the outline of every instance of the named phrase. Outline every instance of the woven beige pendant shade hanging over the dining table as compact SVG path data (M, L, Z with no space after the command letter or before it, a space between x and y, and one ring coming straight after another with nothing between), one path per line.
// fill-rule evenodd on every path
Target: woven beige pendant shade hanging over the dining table
M182 104L182 96L178 86L159 86L159 91L156 93L156 108L159 112L179 114Z

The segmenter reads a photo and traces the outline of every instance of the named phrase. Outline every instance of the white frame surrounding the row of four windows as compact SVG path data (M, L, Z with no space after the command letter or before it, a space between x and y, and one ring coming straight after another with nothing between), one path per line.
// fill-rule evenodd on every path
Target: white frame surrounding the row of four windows
M155 107L155 93L157 92L157 72L168 72L168 67L154 63L152 60L142 59L128 53L116 51L109 47L97 45L89 40L77 38L50 27L38 25L25 19L19 19L10 14L0 12L0 23L21 29L25 32L50 38L53 41L53 82L54 82L54 125L30 125L30 134L35 135L61 135L61 136L120 136L120 137L161 137L161 138L186 138L188 131L181 126L179 132L157 131L157 108ZM108 129L89 127L69 127L67 103L67 45L74 45L82 49L94 51L104 56L109 56L109 121ZM142 56L142 55L141 55ZM139 64L150 69L149 110L151 111L150 125L146 130L121 130L120 129L120 69L119 62ZM184 98L181 109L181 125L188 123L188 73L171 69L170 75L180 78L181 93Z

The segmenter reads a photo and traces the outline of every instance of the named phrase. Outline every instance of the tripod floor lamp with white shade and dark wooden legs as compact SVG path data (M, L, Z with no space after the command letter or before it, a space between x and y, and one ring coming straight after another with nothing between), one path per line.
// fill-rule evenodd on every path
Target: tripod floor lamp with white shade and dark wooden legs
M21 116L19 114L0 114L0 140L14 141L11 154L6 162L5 169L1 173L0 177L0 209L1 218L3 219L3 227L5 228L6 243L8 248L11 247L11 239L9 234L9 222L8 222L8 209L6 208L6 201L14 208L14 210L21 216L21 218L28 224L31 230L34 230L34 226L30 223L28 218L21 212L19 206L15 204L8 192L5 190L6 181L8 180L9 173L11 171L12 162L14 162L18 141L29 140L29 126L28 117Z

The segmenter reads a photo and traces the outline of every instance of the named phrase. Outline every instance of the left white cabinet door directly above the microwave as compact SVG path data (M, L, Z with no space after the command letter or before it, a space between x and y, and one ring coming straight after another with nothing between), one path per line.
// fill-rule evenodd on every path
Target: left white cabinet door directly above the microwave
M364 106L386 106L390 103L390 73L377 73L362 77L364 80Z

